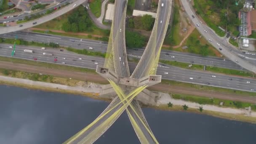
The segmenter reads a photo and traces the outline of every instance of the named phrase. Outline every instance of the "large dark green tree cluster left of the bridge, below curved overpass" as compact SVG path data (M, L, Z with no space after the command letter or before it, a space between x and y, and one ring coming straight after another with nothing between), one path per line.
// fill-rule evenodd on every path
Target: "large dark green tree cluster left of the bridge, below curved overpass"
M65 32L83 32L92 31L92 21L85 8L80 6L77 11L68 17L68 21L61 27Z

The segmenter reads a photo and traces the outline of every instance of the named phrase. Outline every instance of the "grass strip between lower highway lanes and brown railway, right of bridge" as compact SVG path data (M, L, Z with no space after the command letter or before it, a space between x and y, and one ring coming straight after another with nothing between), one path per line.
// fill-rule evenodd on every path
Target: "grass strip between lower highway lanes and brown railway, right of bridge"
M174 80L163 80L161 81L162 84L168 84L168 85L177 85L182 86L184 88L196 88L198 90L205 90L205 91L216 91L216 92L224 92L229 94L237 94L237 95L246 95L246 96L256 96L254 92L249 91L239 91L239 90L232 90L229 88L219 88L219 87L213 87L208 85L198 85L198 84L192 84L192 83L183 83L183 82L177 82Z

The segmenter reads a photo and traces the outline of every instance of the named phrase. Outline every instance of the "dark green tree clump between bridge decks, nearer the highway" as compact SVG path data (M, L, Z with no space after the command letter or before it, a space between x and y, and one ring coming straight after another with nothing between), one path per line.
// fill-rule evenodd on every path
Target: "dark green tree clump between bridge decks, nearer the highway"
M146 37L138 32L125 31L125 44L128 48L141 48L145 45Z

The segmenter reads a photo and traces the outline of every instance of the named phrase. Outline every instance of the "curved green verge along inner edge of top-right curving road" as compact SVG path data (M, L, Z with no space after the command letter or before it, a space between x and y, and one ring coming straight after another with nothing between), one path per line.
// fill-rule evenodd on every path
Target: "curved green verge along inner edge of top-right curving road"
M223 32L216 24L214 24L213 21L211 21L211 19L209 19L209 17L207 15L205 15L205 12L200 8L200 2L198 0L194 0L194 8L196 8L196 12L197 14L199 14L202 19L205 21L205 23L211 27L211 29L213 29L217 35L219 35L220 37L224 37L225 36L225 32Z

